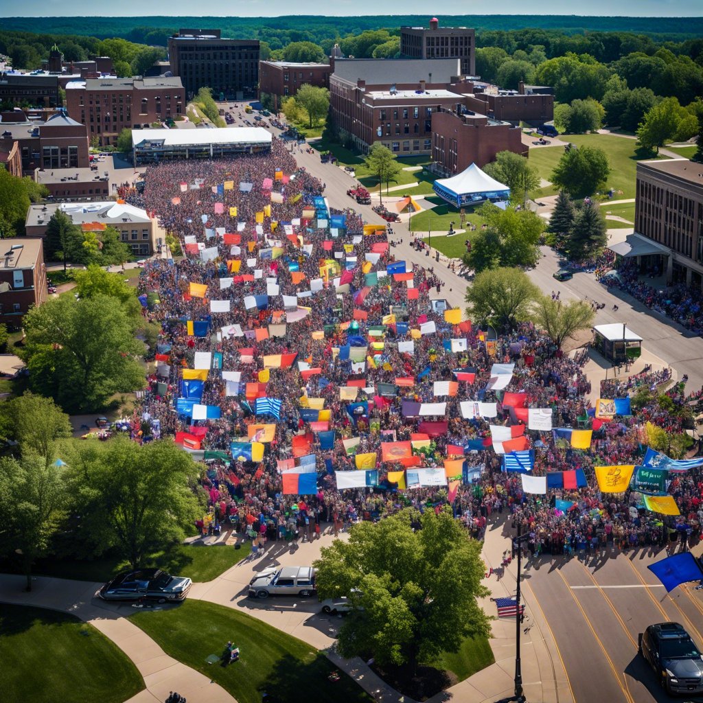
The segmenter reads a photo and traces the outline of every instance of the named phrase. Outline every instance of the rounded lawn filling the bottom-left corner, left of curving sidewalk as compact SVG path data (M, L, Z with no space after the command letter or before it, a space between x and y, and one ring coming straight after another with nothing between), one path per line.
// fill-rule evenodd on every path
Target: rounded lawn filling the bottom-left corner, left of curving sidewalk
M122 703L145 688L127 655L73 615L3 604L0 633L5 701Z

